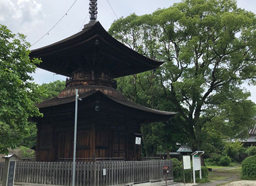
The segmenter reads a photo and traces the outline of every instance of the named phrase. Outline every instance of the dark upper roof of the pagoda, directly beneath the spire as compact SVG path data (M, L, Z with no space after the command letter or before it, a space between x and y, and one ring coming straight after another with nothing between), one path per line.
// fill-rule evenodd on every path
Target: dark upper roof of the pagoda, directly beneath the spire
M112 78L155 69L164 61L133 51L114 39L99 22L66 39L31 51L39 68L71 77L77 70L106 72Z

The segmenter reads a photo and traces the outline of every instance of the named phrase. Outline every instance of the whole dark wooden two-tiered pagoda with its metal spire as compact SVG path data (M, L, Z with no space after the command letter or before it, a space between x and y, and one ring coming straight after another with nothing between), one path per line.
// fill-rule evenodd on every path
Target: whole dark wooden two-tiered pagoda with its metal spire
M39 68L68 77L57 97L38 105L43 117L33 118L38 128L37 161L73 157L76 89L82 99L78 103L78 160L140 160L135 137L141 136L141 124L176 114L134 104L116 90L114 78L155 69L163 61L143 56L111 37L96 21L92 7L91 21L81 32L30 54L42 59Z

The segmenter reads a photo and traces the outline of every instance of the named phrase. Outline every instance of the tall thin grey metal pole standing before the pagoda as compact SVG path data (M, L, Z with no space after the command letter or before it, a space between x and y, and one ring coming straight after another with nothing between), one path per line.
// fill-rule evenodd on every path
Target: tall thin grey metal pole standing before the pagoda
M74 112L74 153L73 153L73 171L72 186L74 186L74 176L76 173L76 148L77 148L77 120L78 120L78 89L76 89L76 107Z

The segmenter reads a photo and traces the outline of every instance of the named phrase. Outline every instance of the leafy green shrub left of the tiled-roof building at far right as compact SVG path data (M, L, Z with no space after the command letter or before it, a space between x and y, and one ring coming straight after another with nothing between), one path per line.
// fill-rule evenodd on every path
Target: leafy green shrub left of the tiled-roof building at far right
M240 142L229 142L225 144L224 153L234 160L237 159L239 153L244 152L243 144Z

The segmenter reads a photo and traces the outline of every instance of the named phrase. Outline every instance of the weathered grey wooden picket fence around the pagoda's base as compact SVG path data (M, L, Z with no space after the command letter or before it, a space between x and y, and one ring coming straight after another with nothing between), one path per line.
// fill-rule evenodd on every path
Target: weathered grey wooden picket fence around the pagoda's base
M171 160L77 162L76 185L129 185L163 180L163 166L170 167L168 178L173 177ZM4 162L0 162L0 180ZM103 170L104 169L104 170ZM106 172L106 175L103 173ZM71 162L17 162L15 182L71 185Z

